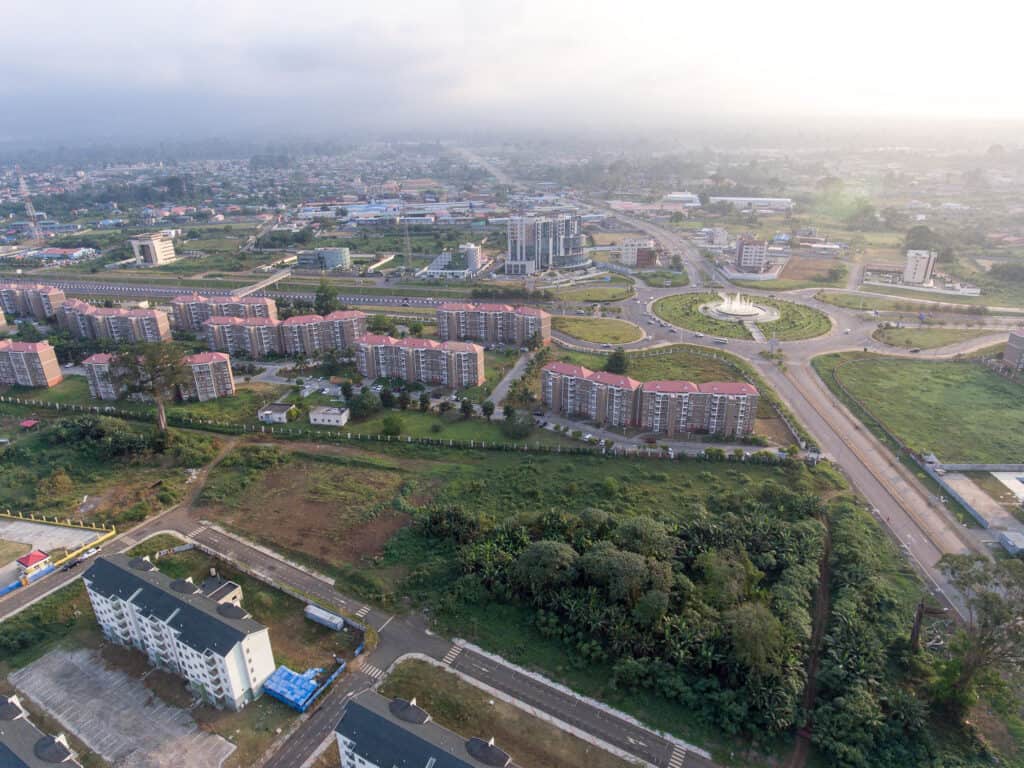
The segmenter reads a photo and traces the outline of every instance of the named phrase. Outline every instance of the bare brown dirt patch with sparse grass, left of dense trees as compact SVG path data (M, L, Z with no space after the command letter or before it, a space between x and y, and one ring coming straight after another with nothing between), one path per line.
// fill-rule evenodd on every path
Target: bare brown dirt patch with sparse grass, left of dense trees
M379 554L396 530L409 523L404 497L422 503L424 489L404 485L397 465L360 461L361 452L317 446L316 455L293 454L288 463L261 472L241 493L210 503L201 499L196 514L255 539L273 531L275 546L331 563L357 563ZM352 471L354 467L358 471ZM224 483L234 468L217 470L212 482Z

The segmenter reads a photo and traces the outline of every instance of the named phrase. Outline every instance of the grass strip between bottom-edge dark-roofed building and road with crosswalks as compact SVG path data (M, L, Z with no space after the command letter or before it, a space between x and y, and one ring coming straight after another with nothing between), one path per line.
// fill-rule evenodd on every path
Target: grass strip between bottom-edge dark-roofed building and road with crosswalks
M526 714L517 707L425 662L398 665L380 688L391 698L416 699L438 725L465 738L494 737L517 765L628 768L632 763Z

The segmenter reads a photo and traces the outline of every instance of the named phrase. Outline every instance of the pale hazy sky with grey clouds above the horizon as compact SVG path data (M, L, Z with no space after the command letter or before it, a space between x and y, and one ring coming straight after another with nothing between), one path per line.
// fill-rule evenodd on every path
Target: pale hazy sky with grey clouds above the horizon
M4 0L0 137L1020 119L1020 15L1007 0Z

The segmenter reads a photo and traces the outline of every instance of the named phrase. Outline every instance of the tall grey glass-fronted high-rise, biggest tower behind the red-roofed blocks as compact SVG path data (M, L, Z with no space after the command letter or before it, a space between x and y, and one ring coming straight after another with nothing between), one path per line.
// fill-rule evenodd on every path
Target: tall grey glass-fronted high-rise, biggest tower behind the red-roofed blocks
M534 274L586 263L575 214L510 216L508 221L507 274Z

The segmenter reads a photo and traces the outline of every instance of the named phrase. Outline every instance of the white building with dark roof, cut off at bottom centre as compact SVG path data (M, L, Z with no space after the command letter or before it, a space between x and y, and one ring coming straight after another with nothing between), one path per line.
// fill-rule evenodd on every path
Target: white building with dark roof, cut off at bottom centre
M512 759L494 739L463 738L433 722L414 698L375 690L353 697L335 727L341 768L507 768Z

